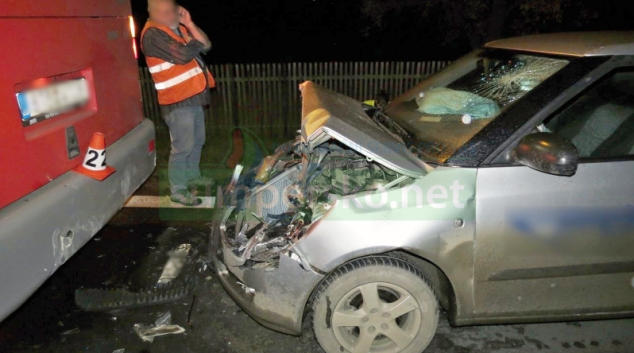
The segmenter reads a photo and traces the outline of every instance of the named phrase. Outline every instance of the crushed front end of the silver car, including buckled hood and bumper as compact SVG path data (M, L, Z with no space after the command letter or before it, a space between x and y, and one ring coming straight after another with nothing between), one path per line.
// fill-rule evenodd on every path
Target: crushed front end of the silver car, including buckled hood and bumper
M300 136L218 190L211 258L232 298L269 328L300 334L326 275L297 247L342 198L407 185L429 169L353 99L302 85Z

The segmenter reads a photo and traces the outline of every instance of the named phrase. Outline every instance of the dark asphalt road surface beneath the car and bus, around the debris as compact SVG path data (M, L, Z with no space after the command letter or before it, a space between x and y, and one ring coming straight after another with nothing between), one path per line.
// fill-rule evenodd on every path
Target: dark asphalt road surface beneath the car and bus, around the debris
M144 192L148 189L139 191ZM208 216L204 211L124 208L0 324L0 351L321 352L310 330L293 337L258 325L227 296L211 271L201 271ZM190 220L179 220L183 218ZM199 279L195 295L107 313L88 313L75 305L74 291L80 287L143 288L156 283L168 252L183 243L192 244L193 251L181 276ZM167 311L185 332L143 342L133 326L151 324ZM634 352L634 319L454 328L442 315L426 352Z

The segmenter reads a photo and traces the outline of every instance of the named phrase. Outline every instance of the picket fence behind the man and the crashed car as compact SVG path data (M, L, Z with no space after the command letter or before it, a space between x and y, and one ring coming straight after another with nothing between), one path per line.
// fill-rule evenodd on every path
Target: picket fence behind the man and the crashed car
M300 126L298 86L312 80L358 100L373 99L380 90L392 97L405 92L424 77L447 66L448 61L427 62L326 62L210 65L217 88L207 114L207 134L240 126L262 136L290 137ZM167 134L152 77L139 69L144 113Z

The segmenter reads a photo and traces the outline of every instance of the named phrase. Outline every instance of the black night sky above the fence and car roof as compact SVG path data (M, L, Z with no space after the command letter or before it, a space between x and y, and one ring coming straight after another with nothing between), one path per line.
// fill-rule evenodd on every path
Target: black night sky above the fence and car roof
M432 0L421 0L424 1ZM436 1L440 5L427 16L411 10L386 11L381 30L366 35L363 29L371 22L361 16L364 0L181 0L180 3L190 10L194 22L214 43L207 62L455 59L472 49L467 28L469 23L477 25L473 23L482 13L469 19L462 10L448 9L442 1ZM464 3L474 1L488 0ZM525 15L517 7L518 10L509 12L502 35L634 29L631 16L625 16L634 13L632 4L600 0L576 0L570 4L574 5L566 7L563 19L533 21L537 23L528 29L518 29L517 19ZM147 18L146 7L147 0L132 0L139 25ZM457 12L459 16L455 16ZM580 21L580 15L588 18ZM461 30L462 21L471 21L464 24L465 30Z

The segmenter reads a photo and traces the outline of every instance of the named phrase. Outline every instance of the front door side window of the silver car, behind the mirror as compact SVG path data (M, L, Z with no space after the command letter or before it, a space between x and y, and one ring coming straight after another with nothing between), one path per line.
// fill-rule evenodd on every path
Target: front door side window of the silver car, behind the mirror
M538 128L572 142L582 159L633 156L634 71L612 73Z

